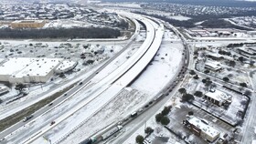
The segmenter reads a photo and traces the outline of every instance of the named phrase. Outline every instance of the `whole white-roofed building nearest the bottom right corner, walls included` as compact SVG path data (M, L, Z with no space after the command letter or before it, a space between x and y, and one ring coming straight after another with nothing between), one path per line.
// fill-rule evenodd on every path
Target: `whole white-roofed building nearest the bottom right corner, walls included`
M186 120L183 121L183 124L197 136L207 139L210 142L219 138L219 130L209 126L208 122L204 119L188 116Z

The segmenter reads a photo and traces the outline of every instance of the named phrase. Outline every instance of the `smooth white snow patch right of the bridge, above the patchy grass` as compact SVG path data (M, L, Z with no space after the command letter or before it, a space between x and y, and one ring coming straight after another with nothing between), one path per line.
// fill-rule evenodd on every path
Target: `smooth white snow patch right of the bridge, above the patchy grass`
M182 64L183 50L181 41L167 30L153 61L131 87L155 96L176 75L176 70Z

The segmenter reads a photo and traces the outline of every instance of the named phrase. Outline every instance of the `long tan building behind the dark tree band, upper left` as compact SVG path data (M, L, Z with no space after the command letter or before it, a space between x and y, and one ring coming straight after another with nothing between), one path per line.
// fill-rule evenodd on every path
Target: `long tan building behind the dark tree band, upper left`
M41 28L45 25L45 20L16 20L11 23L12 28Z

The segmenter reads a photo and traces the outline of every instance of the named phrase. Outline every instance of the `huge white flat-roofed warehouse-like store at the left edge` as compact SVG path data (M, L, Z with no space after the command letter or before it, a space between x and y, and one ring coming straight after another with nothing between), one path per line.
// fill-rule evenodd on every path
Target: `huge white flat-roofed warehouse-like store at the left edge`
M60 58L10 58L0 66L0 81L10 83L47 82L61 61Z

